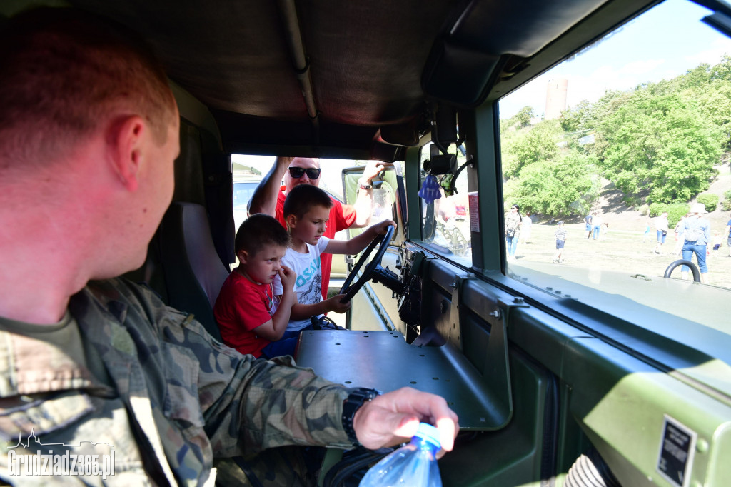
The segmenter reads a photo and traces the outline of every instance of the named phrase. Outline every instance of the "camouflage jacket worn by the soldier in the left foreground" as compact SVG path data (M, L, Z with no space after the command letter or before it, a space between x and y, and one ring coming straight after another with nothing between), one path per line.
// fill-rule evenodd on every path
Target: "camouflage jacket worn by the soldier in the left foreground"
M107 380L61 347L0 331L1 480L212 485L214 456L283 445L349 447L341 425L349 389L289 358L240 355L143 287L124 279L90 282L72 297L69 312ZM93 368L94 360L86 363ZM115 471L106 479L15 477L11 449L13 458L113 450Z

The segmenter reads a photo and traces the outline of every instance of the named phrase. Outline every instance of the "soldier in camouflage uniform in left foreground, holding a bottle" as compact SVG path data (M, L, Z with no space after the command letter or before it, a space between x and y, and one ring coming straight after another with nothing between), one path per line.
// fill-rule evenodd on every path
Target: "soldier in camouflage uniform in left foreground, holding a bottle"
M179 118L162 70L124 29L73 10L20 15L1 35L0 479L212 485L215 465L224 482L305 483L287 445L350 448L350 390L240 355L107 279L143 262L173 195ZM415 390L366 402L353 429L380 448L419 420L452 449L456 415ZM11 455L51 452L113 458L113 475L13 470Z

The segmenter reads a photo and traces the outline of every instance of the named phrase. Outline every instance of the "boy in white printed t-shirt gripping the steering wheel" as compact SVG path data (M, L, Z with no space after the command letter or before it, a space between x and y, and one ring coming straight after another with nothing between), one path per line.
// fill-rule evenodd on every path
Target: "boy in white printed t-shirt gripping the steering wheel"
M287 333L311 328L311 317L319 320L327 312L343 313L350 308L350 302L340 302L343 295L322 300L320 254L357 254L376 236L386 233L389 226L395 226L392 220L385 220L348 241L331 240L322 234L327 227L332 205L333 201L327 193L311 184L298 184L287 193L287 199L284 200L284 221L292 241L281 264L292 269L297 276L297 302L292 306ZM283 289L279 277L275 278L273 284L274 294L281 296Z

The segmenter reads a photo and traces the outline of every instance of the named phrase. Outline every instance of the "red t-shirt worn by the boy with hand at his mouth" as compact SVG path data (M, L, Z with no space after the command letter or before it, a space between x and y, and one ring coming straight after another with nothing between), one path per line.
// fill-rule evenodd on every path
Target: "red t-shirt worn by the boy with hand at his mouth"
M213 306L224 344L254 357L262 355L262 348L270 341L252 330L272 319L271 307L270 284L251 282L238 271L230 273Z

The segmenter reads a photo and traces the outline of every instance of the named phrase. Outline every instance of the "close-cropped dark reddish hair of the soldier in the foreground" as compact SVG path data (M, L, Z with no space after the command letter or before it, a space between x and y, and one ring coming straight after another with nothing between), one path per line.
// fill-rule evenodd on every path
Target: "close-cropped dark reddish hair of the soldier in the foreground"
M167 140L175 98L150 46L72 8L20 13L0 32L0 167L68 156L115 117L138 115Z

